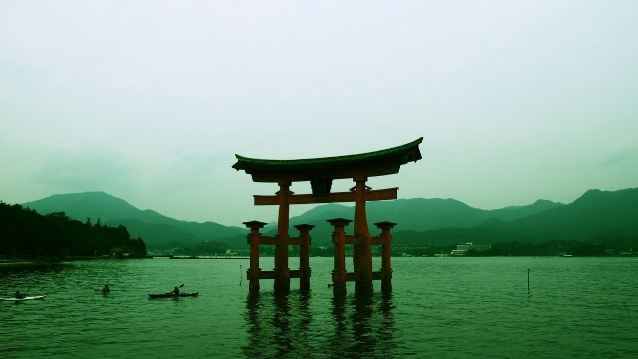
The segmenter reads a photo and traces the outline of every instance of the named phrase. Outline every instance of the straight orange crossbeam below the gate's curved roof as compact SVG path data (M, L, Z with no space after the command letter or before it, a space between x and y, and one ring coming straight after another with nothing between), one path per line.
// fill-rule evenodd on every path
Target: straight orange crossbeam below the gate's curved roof
M364 192L364 201L384 201L386 199L397 199L398 187L386 188L383 190L368 190ZM311 194L288 195L288 204L315 204L315 203L335 203L356 201L355 192L336 192L327 194L325 197L313 197ZM255 206L272 206L279 204L278 195L253 195Z

